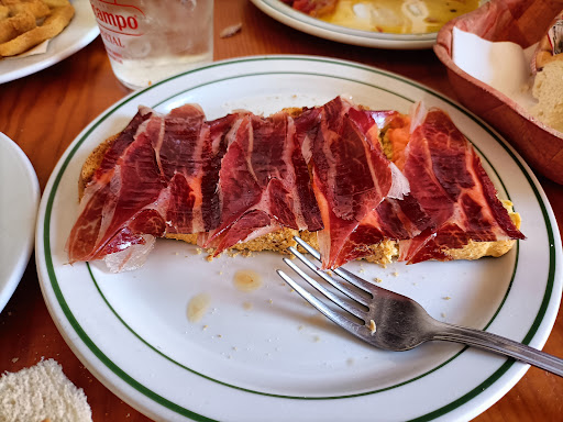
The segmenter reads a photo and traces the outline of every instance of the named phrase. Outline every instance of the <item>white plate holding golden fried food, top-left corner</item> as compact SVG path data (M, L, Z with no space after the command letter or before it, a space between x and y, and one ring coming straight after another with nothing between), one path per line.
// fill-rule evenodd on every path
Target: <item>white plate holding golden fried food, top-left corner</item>
M88 0L71 1L75 15L65 30L48 43L47 52L27 57L0 59L0 84L43 70L86 47L100 31Z

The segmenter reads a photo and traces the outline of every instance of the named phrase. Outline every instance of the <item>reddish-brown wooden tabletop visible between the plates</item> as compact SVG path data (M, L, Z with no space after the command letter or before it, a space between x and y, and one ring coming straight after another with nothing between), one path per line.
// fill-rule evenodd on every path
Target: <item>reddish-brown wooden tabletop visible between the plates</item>
M262 54L308 54L373 65L412 78L455 98L445 69L432 51L382 51L317 38L283 25L246 0L216 0L214 58ZM242 22L242 32L230 38L219 33ZM99 113L130 91L111 71L101 40L35 75L0 86L0 132L14 140L30 157L41 188L63 152ZM563 224L563 187L541 178ZM563 356L563 316L560 313L544 351ZM58 333L41 295L34 256L14 296L0 314L0 373L16 371L54 358L82 388L95 421L146 421L136 410L103 387L76 358ZM530 368L500 401L476 420L563 420L563 380Z

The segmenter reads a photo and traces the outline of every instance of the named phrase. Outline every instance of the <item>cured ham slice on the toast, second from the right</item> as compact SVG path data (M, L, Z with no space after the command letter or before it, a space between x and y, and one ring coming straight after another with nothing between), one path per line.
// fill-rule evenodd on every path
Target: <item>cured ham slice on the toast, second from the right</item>
M322 107L319 127L309 137L313 190L324 224L318 233L323 268L338 267L354 256L350 244L346 246L349 237L391 193L394 171L380 148L378 132L372 114L338 97ZM401 178L396 171L395 179ZM391 196L401 197L408 191L408 184L399 185L402 189ZM361 236L355 235L355 255L360 251L367 254L366 248L357 246L367 245L373 237L358 244Z

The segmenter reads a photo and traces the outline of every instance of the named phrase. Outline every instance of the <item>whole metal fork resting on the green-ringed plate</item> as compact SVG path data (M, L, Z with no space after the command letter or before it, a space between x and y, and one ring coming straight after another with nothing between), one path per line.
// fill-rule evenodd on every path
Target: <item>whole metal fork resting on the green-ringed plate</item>
M299 237L295 237L295 240L311 256L320 260L321 256L317 249ZM346 295L352 301L335 295L306 274L295 263L284 258L284 262L289 267L329 300L363 321L363 323L353 321L353 316L349 318L334 311L324 301L303 289L280 269L277 270L279 276L325 316L364 342L388 351L408 351L429 341L463 343L506 355L563 376L563 359L559 357L496 334L437 321L418 302L406 296L374 286L342 267L332 270L342 280L331 277L295 247L289 247L289 251L307 267L335 289ZM351 287L350 284L357 289Z

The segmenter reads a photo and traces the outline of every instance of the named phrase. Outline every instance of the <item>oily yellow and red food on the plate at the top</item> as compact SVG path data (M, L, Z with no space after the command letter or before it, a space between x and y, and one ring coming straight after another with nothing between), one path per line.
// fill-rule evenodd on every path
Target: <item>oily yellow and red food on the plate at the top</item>
M471 12L478 0L282 0L294 9L355 30L419 34Z

